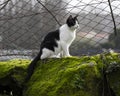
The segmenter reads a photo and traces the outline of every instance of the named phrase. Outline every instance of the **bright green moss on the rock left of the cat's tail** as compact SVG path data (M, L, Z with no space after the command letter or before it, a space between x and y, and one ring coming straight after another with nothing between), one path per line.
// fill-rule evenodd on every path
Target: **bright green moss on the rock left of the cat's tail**
M21 80L20 74L22 75L25 72L29 63L30 60L22 60L22 59L14 59L14 60L0 62L0 78L4 78L8 75L12 75L13 77L15 77L15 79Z

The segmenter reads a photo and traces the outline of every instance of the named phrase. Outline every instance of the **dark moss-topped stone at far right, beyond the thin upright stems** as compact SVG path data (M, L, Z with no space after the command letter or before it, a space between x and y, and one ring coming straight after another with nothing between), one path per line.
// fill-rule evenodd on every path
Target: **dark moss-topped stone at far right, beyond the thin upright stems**
M106 56L107 62L107 77L111 88L120 96L120 54L113 54Z

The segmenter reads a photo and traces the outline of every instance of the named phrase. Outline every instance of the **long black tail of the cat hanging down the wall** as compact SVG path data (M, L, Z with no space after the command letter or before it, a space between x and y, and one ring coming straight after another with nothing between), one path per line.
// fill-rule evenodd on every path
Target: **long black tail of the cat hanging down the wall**
M32 76L32 74L33 74L33 72L34 72L34 69L35 69L35 67L36 67L36 64L37 64L37 62L40 60L40 56L41 56L41 51L38 53L38 55L33 59L33 61L29 64L29 66L28 66L28 68L27 68L27 76L26 76L26 78L25 78L25 82L27 82L30 78L31 78L31 76Z

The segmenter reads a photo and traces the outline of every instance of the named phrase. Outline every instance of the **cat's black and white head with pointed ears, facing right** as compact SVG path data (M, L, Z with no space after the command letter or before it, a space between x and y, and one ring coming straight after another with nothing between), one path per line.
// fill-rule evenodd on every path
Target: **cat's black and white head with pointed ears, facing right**
M66 24L68 25L68 27L72 28L72 29L77 29L79 27L79 23L78 23L78 19L77 19L78 15L76 15L75 17L72 17L72 15L70 15L66 21Z

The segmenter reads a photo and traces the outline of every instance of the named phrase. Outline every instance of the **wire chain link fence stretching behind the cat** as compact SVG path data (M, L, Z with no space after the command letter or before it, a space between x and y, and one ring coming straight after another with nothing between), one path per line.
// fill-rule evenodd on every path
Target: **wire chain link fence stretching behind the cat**
M34 57L42 38L70 14L78 14L80 23L72 55L98 54L103 48L119 51L120 1L110 0L115 26L108 1L0 0L0 60Z

